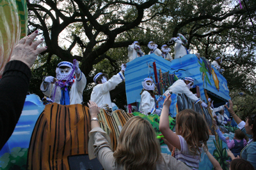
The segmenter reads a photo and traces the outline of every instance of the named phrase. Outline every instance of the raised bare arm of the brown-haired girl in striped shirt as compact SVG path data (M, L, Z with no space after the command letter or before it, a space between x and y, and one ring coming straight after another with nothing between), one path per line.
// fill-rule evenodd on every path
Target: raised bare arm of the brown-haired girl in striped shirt
M164 138L175 148L181 150L180 139L169 127L169 108L172 103L171 95L166 97L163 104L163 110L159 122L159 131L163 134Z

